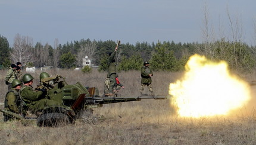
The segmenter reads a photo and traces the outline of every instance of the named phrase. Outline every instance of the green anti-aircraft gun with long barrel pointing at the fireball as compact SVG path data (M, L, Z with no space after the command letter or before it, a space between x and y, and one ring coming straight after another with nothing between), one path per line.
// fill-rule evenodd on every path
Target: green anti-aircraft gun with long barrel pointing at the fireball
M142 99L166 99L166 96L99 96L96 87L85 87L80 82L68 85L65 78L58 77L64 81L55 82L54 88L49 89L46 96L48 99L61 102L61 105L45 107L36 114L36 118L22 117L5 109L0 109L0 111L10 118L21 120L23 123L32 120L36 121L39 127L58 126L74 123L84 111L92 115L92 108L102 107L103 104L141 101Z

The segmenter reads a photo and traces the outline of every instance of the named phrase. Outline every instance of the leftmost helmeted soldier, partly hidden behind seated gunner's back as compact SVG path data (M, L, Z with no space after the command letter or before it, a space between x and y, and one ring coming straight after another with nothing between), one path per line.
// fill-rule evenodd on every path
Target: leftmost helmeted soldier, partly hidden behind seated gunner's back
M20 96L18 95L18 91L20 91L22 83L20 80L14 79L11 84L12 88L7 92L5 96L4 108L7 111L20 114ZM11 120L11 118L4 114L4 121L8 120Z

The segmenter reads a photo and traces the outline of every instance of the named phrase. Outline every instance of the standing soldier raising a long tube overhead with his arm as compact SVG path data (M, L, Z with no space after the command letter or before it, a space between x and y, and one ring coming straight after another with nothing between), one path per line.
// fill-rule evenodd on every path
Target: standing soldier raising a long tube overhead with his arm
M115 64L115 53L117 51L117 47L115 47L114 53L109 53L110 56L108 59L108 74L110 75L110 88L108 94L113 94L113 89L115 85L115 75L117 73L116 64Z

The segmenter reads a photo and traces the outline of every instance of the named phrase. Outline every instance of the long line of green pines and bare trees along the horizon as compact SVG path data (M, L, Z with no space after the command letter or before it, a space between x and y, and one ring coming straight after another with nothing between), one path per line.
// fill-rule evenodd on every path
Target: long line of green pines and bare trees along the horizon
M107 70L108 53L113 52L116 42L113 40L96 41L82 39L54 46L36 43L33 39L17 34L13 47L7 38L0 36L0 63L7 69L11 63L22 62L27 66L54 66L74 68L82 66L82 58L88 56L98 65L99 70ZM255 67L255 47L239 41L223 39L213 43L174 43L174 41L158 41L157 43L137 42L135 45L120 44L117 51L118 70L139 70L143 61L151 63L153 70L183 70L186 61L193 54L201 54L208 59L225 60L230 69L248 72Z

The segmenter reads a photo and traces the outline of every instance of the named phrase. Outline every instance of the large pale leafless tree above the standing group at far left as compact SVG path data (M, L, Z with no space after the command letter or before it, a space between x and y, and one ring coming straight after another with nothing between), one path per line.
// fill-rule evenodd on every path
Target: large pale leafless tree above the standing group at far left
M14 46L11 50L11 59L13 62L34 62L35 56L32 53L33 38L28 36L20 36L16 34L14 38Z

